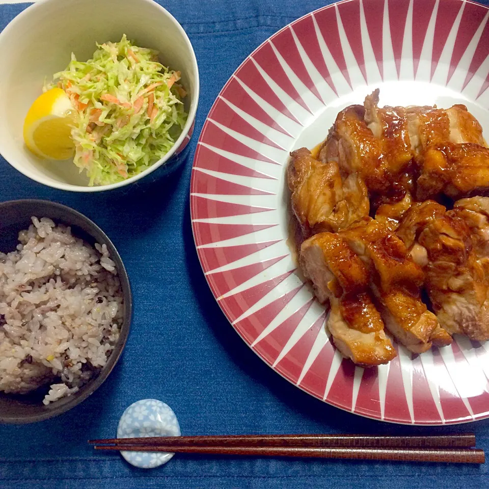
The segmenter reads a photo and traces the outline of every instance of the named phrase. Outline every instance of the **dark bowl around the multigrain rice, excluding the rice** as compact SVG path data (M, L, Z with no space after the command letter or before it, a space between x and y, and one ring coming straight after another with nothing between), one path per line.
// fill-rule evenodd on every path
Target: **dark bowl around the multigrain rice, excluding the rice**
M122 289L122 297L123 297L123 320L120 328L119 339L112 350L110 357L107 359L107 363L102 367L100 373L91 379L85 386L80 388L80 390L74 394L71 394L68 397L61 398L59 400L53 401L48 405L42 404L39 402L38 405L32 405L33 411L36 412L33 414L22 414L18 415L15 413L7 413L5 414L2 410L2 403L0 402L0 423L3 424L26 424L26 423L36 423L38 421L43 421L45 419L49 419L60 414L66 413L70 409L74 408L77 404L84 401L93 394L105 381L108 375L112 372L114 367L116 366L119 358L121 357L122 351L127 341L127 337L129 335L130 323L132 320L132 292L129 283L129 277L127 275L126 268L124 263L117 251L114 243L111 239L102 231L102 229L97 226L92 220L87 218L86 215L78 212L71 207L68 207L64 204L59 204L58 202L50 202L42 199L20 199L20 200L10 200L5 202L0 202L0 231L5 226L11 226L15 224L15 214L14 218L5 219L5 215L9 215L8 212L15 208L22 209L26 206L32 206L35 208L39 208L36 212L37 217L46 217L52 219L55 224L58 226L60 224L65 226L72 226L80 228L87 235L89 235L94 242L98 242L100 244L105 244L109 251L110 258L116 264L117 276L121 283ZM52 217L49 214L50 210L56 210L60 215L63 215L63 218ZM42 215L41 215L42 214ZM35 214L32 214L35 215ZM31 215L26 215L24 213L25 222L28 222L31 218ZM22 228L18 229L21 231ZM73 233L75 237L80 237L77 233ZM84 242L86 240L82 237ZM92 243L91 246L93 246ZM3 250L0 250L3 251ZM14 250L7 250L14 251ZM13 397L12 394L0 394L3 399L8 399L9 397ZM28 396L29 394L26 394ZM15 395L15 399L19 400L21 397L19 395Z

